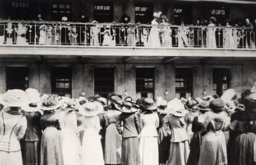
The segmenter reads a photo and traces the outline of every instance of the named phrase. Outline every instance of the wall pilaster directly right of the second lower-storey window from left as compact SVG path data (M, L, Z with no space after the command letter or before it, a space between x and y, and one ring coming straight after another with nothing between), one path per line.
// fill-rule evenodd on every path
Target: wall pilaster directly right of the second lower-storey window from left
M83 64L72 67L72 97L77 98L83 92Z

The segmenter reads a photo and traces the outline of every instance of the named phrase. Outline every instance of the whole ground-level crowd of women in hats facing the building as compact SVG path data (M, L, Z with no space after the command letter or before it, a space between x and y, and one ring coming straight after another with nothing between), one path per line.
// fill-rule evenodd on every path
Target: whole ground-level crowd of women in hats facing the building
M12 89L0 104L1 165L256 164L256 85L170 102Z

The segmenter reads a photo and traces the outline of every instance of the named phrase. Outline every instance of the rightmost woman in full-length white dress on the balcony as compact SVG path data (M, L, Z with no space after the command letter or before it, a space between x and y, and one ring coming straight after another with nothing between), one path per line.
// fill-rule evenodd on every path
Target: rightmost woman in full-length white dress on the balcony
M233 30L229 24L230 20L226 20L226 28L225 28L225 41L224 41L224 46L225 48L234 48L234 38L233 38Z

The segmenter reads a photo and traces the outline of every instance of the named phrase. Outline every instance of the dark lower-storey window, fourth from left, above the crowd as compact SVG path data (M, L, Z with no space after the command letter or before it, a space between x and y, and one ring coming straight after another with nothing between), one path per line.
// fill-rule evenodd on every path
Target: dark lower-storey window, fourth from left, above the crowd
M154 68L136 68L137 98L154 98Z

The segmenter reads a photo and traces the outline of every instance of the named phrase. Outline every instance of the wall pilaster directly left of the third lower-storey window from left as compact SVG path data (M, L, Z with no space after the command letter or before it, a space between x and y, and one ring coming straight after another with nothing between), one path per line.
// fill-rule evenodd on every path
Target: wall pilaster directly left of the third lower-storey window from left
M84 92L85 96L94 96L94 67L92 64L84 64Z

